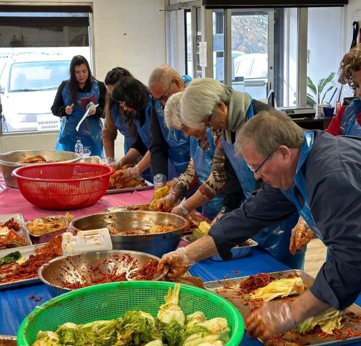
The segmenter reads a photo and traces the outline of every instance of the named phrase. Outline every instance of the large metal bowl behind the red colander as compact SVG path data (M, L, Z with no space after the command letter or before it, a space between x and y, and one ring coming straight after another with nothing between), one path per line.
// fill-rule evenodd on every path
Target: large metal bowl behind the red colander
M18 181L12 176L12 172L18 167L37 165L36 163L21 162L28 157L34 157L37 155L43 156L47 161L59 162L75 162L80 158L77 153L58 150L16 150L0 154L0 168L3 173L5 183L8 186L19 188Z

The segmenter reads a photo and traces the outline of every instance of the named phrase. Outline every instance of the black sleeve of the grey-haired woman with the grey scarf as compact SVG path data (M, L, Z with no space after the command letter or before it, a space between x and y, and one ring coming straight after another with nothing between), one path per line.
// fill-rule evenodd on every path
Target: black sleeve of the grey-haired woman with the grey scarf
M228 213L241 205L245 194L227 155L225 156L225 172L227 182L223 206L226 208L225 212Z

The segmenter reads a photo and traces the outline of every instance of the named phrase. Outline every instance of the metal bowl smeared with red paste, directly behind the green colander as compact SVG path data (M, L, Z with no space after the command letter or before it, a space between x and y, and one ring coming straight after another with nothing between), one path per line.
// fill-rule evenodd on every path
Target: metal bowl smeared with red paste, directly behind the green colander
M38 276L48 285L48 290L58 295L73 290L65 287L66 283L93 285L91 283L103 274L134 273L150 260L159 258L136 251L82 252L50 260L39 268ZM151 280L161 279L166 272L155 273Z

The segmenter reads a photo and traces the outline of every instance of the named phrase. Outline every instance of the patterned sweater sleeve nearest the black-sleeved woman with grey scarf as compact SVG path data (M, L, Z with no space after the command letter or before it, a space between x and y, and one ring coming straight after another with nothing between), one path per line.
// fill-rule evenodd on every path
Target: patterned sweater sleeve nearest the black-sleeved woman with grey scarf
M212 170L208 179L199 188L200 192L208 199L212 199L213 197L217 196L222 190L226 188L226 153L222 145L222 131L213 131L212 136L216 145L215 155L213 157Z

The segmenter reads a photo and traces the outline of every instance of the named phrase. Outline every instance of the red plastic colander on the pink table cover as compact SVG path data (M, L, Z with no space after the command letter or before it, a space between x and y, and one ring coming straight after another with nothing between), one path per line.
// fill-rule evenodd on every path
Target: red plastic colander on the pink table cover
M97 202L114 168L94 163L39 164L12 172L23 196L43 209L77 209Z

